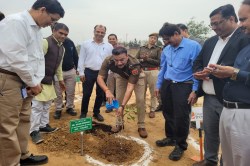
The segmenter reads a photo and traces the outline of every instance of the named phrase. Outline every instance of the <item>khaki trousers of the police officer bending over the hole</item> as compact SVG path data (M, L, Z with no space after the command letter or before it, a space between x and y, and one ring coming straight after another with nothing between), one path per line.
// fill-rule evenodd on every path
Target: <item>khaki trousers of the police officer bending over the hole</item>
M122 103L124 98L128 80L122 78L118 74L116 76L116 98L119 103ZM141 73L139 81L135 85L135 96L136 96L136 107L137 107L137 117L138 117L138 128L145 128L145 99L144 99L144 91L145 91L145 82L144 82L144 73Z

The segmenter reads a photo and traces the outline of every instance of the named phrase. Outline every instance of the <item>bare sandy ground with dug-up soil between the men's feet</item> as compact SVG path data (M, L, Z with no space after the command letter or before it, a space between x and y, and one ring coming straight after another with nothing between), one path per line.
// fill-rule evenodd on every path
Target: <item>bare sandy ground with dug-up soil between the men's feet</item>
M29 142L29 149L34 154L46 154L49 157L48 166L75 166L84 165L92 166L93 163L89 163L84 156L81 156L81 134L69 133L69 121L78 119L80 116L81 108L81 84L76 86L76 100L75 110L78 115L72 117L65 111L62 112L60 120L53 119L54 106L51 107L50 113L50 125L52 127L59 127L60 129L51 134L43 134L44 142L35 145ZM171 161L168 159L168 155L174 149L174 147L157 147L155 141L165 137L164 130L164 118L161 112L156 113L156 117L151 119L148 117L149 113L149 101L150 95L146 96L146 129L148 132L148 138L143 139L153 149L151 162L149 166L191 166L195 161L191 158L193 156L199 156L199 151L192 145L189 145L187 151L185 151L183 157L179 161ZM89 112L87 116L92 116L93 105L95 101L95 94L91 96L89 104ZM132 95L127 107L129 111L125 116L125 129L119 135L126 137L132 136L139 139L137 131L137 116L135 112L135 96ZM101 107L101 114L105 121L103 123L94 124L93 130L83 134L83 155L88 154L96 160L100 160L106 164L114 165L132 165L140 159L144 152L142 145L136 143L133 140L126 140L121 137L117 137L116 134L110 134L110 125L115 124L115 112L105 113L105 107ZM198 142L198 130L190 129L190 136L192 136L196 142Z

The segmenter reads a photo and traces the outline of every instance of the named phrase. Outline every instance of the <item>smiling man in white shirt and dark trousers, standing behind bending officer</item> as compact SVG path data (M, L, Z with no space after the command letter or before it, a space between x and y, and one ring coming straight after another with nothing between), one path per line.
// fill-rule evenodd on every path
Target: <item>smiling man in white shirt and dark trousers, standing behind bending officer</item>
M80 118L85 118L88 113L89 99L93 91L94 84L98 76L104 59L112 55L113 46L108 42L104 42L103 38L106 34L106 27L96 25L94 27L94 38L86 40L81 45L78 61L78 72L83 83L83 97ZM98 84L96 84L96 99L93 110L93 117L98 121L104 121L100 114L100 107L103 101L104 92Z

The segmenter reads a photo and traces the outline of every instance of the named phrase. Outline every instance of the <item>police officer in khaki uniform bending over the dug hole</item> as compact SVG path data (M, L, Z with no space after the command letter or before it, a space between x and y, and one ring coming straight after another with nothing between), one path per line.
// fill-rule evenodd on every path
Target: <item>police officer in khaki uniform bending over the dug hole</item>
M123 119L124 107L130 99L133 90L136 96L136 106L138 115L138 132L140 137L146 138L148 136L145 129L145 83L144 73L141 72L141 65L139 61L128 55L124 47L117 47L113 49L112 56L107 57L102 63L99 71L97 82L106 94L109 103L114 100L114 94L111 93L105 84L105 79L108 76L108 71L116 73L116 97L120 103L117 109L117 119ZM123 121L123 120L122 120ZM113 132L119 132L123 128L123 123L118 123L112 128Z

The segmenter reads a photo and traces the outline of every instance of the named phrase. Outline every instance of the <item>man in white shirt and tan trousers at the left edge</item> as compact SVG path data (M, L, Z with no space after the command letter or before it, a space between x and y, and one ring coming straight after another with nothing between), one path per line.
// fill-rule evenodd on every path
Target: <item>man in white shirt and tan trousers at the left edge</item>
M45 65L41 27L64 16L57 0L37 0L29 11L0 22L0 165L40 165L28 151L31 100L42 91Z

